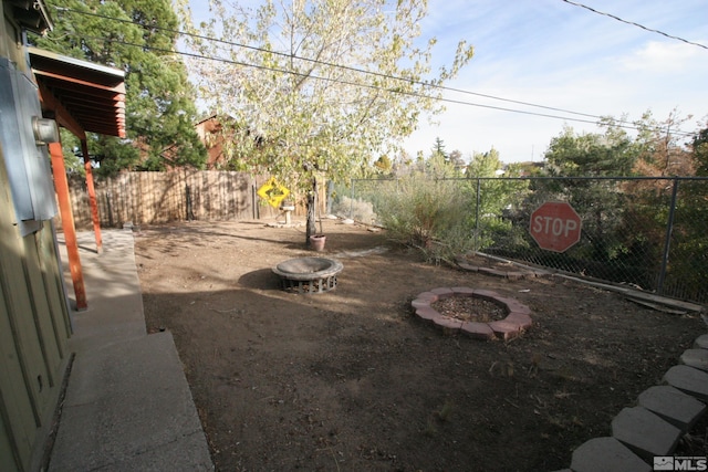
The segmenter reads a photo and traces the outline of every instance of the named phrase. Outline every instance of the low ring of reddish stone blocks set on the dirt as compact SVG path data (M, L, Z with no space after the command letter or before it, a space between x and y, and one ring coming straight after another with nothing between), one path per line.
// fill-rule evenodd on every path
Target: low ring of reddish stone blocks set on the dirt
M480 298L494 303L507 312L507 317L496 322L466 322L450 316L445 316L430 305L440 298L451 296L466 296ZM428 323L442 329L446 334L461 333L472 338L493 339L496 337L504 340L519 336L533 325L531 319L531 308L513 298L507 298L490 290L470 289L466 286L452 289L433 289L423 292L410 303L416 311L416 315Z

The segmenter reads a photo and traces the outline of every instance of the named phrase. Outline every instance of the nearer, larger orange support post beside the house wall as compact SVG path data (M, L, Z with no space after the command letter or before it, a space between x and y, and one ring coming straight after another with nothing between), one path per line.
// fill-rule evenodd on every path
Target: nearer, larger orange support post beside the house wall
M74 213L71 210L69 199L69 181L66 180L66 168L64 167L64 155L61 143L51 143L49 151L52 156L52 174L54 175L54 188L59 200L59 211L62 217L62 229L66 241L66 254L69 255L69 270L74 284L74 295L76 296L76 310L87 308L86 289L84 286L84 275L81 270L81 259L79 256L79 243L76 241L76 229L74 228Z

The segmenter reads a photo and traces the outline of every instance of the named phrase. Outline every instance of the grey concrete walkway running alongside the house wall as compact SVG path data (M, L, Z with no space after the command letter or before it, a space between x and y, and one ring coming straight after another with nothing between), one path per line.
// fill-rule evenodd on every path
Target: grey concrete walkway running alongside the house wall
M49 470L214 470L173 336L145 329L133 233L104 230L102 254L77 237L88 310L65 275L75 358Z

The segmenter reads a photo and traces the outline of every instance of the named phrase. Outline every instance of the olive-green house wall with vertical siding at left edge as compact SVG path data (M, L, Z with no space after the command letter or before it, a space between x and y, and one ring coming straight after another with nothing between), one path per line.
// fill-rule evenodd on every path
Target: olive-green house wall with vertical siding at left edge
M31 80L21 29L13 20L15 7L0 1L0 60ZM8 86L0 84L6 96L13 93ZM35 105L39 109L39 96ZM0 126L31 120L20 108L1 111ZM38 149L30 149L31 158L45 158L30 144L33 147ZM11 188L17 177L10 177L9 166L27 158L27 147L9 145L0 136L0 471L40 469L71 357L71 323L52 220L43 214L20 221ZM41 168L35 177L51 183L51 175L43 176ZM51 213L53 202L44 203Z

